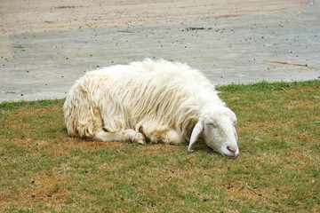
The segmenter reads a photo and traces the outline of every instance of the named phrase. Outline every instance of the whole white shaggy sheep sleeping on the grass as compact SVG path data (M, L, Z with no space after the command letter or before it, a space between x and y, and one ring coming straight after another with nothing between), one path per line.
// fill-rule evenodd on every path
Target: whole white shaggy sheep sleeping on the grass
M105 142L180 144L203 138L213 151L239 154L236 114L197 69L164 59L87 72L64 103L68 135Z

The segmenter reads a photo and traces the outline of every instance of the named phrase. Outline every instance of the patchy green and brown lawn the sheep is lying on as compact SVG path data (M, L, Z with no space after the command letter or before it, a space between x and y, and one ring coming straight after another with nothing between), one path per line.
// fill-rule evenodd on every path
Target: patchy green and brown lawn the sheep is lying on
M63 100L0 104L0 211L319 212L320 81L217 89L236 159L70 138Z

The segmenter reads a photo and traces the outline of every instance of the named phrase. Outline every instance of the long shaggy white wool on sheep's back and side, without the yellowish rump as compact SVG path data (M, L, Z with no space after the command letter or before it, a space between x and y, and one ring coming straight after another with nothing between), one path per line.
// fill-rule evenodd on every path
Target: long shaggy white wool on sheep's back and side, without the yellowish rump
M100 108L104 120L115 121L110 124L115 130L160 122L182 132L188 125L183 122L198 117L201 106L220 101L198 70L164 60L103 67L88 72L75 86Z

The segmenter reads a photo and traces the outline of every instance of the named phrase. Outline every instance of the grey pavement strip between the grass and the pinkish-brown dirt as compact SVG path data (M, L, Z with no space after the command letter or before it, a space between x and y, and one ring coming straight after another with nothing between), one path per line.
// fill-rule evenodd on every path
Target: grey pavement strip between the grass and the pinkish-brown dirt
M0 91L14 92L0 102L62 99L85 71L145 58L188 63L214 84L318 79L320 0L261 15L0 36Z

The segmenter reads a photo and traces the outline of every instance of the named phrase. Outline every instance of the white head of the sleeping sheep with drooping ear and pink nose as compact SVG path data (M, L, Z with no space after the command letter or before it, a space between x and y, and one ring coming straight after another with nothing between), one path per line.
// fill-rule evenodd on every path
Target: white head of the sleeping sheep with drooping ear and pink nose
M239 148L235 125L236 114L228 107L206 108L192 131L188 151L193 151L192 146L202 135L205 144L215 152L228 157L236 157L239 154Z

